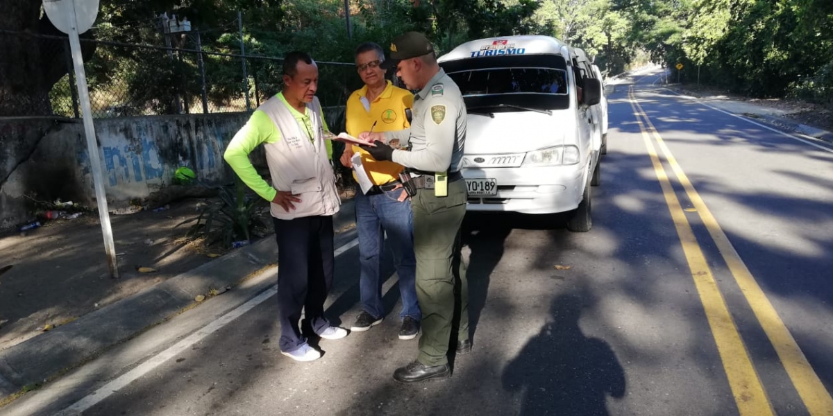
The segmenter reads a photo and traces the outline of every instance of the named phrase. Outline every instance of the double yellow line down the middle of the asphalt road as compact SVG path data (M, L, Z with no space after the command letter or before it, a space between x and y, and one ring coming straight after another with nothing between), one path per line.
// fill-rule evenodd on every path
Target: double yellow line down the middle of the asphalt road
M723 260L726 261L726 265L740 286L741 292L761 323L766 336L770 339L776 354L781 359L781 364L783 364L792 384L796 387L796 391L806 405L807 411L811 416L833 416L831 394L827 392L824 384L821 383L821 379L813 371L810 363L807 362L804 353L801 352L796 343L796 339L793 339L790 331L786 329L786 325L781 321L781 317L778 316L775 308L764 295L761 286L757 284L749 269L746 268L741 256L737 254L735 247L731 245L728 237L726 237L726 233L721 230L721 226L711 215L711 211L706 207L694 186L691 185L691 181L688 180L686 173L682 171L671 154L660 133L656 131L653 123L651 123L645 111L642 110L642 106L636 101L632 86L628 89L628 98L642 132L642 139L645 141L648 154L651 156L656 178L660 182L668 210L671 211L671 219L674 221L677 235L686 255L697 293L700 295L704 310L706 310L706 319L708 319L711 327L711 333L714 334L717 350L721 356L723 368L726 370L726 377L729 380L732 395L735 397L741 416L765 416L775 413L755 366L752 364L746 344L741 339L741 334L738 332L734 319L732 319L726 300L723 299L715 277L711 274L706 256L703 255L701 246L697 243L691 224L686 219L686 213L677 199L673 186L671 186L671 181L666 174L665 167L662 165L660 156L657 155L654 146L655 141L661 149L662 156L671 166L671 170L674 171L677 181L686 191L688 199L700 215L703 225L706 225L706 230L711 235L711 239L715 241ZM651 140L651 136L653 136L653 140Z

